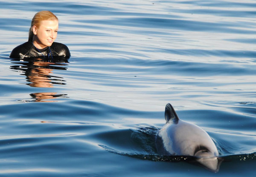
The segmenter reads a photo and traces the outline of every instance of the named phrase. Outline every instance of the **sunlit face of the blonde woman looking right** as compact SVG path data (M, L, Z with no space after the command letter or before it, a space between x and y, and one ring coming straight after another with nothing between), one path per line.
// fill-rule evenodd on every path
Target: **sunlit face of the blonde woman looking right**
M51 46L58 32L58 20L42 20L39 27L33 26L33 44L38 49Z

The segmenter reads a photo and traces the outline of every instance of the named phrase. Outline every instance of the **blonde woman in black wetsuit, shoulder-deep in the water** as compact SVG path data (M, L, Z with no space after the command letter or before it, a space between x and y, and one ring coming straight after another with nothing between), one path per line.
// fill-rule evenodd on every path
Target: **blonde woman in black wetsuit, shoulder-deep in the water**
M29 41L12 50L10 58L70 57L66 45L54 42L58 32L58 18L49 11L35 14L29 29Z

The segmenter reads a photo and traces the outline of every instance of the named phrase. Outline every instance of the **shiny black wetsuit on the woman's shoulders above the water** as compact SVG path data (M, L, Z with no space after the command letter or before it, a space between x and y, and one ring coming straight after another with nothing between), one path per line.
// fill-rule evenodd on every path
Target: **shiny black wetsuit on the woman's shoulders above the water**
M37 49L31 41L25 42L15 47L10 58L45 58L45 57L63 57L70 58L70 51L66 45L53 42L51 46L44 49Z

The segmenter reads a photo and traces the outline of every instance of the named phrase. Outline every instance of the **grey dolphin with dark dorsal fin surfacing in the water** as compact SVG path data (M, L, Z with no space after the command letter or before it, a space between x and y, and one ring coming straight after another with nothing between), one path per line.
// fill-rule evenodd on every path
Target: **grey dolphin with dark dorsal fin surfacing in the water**
M180 120L171 104L166 104L166 124L156 136L157 152L161 155L193 156L210 171L218 172L221 159L216 145L202 128Z

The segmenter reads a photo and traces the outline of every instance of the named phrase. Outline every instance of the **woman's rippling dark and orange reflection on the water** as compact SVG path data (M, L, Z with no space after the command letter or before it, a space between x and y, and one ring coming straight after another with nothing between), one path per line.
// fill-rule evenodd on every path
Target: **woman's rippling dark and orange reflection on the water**
M27 85L30 87L54 87L54 84L65 85L63 77L53 75L54 70L67 70L68 60L65 58L44 59L12 59L10 67L13 71L26 76ZM58 94L55 92L31 93L32 100L22 100L23 102L56 102L56 98L66 98L67 94Z

